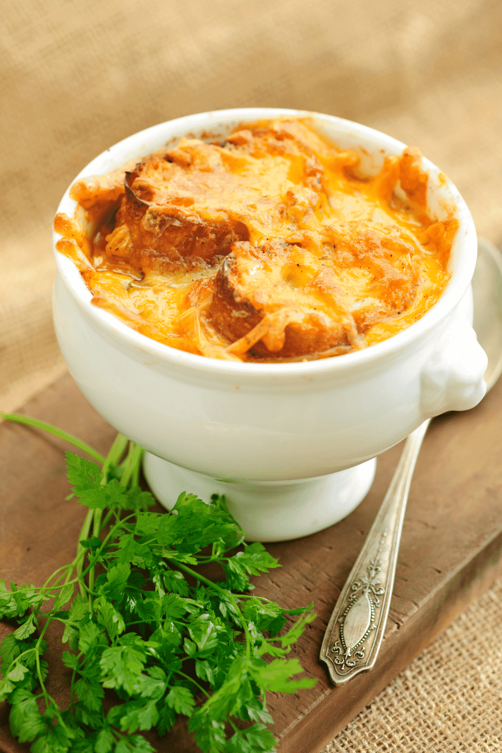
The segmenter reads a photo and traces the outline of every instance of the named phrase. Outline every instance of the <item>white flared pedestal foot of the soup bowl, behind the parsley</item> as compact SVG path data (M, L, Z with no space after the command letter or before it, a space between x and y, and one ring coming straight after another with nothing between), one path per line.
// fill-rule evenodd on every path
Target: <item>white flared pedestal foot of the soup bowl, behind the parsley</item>
M351 513L373 483L376 459L318 478L296 481L223 481L187 471L145 453L145 478L170 510L181 492L208 502L224 494L247 541L287 541L321 531Z

